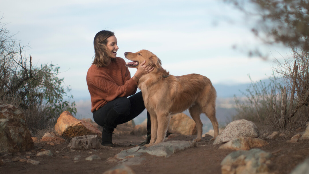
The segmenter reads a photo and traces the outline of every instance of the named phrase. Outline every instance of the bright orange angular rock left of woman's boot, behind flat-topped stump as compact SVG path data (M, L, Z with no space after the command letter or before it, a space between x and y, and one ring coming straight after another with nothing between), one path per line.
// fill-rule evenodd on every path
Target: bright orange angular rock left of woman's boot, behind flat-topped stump
M78 120L73 115L64 111L57 119L55 131L58 136L77 137L83 135L98 135L101 136L102 132L98 128L87 123L84 120Z

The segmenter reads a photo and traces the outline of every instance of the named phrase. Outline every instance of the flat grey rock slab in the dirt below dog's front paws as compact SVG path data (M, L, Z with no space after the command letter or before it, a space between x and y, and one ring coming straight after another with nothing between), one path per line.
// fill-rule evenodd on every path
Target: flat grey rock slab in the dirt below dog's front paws
M117 159L126 159L139 157L143 153L148 153L155 156L164 156L168 158L177 151L182 151L195 146L194 141L167 141L161 142L151 147L136 146L131 149L121 151L115 156Z

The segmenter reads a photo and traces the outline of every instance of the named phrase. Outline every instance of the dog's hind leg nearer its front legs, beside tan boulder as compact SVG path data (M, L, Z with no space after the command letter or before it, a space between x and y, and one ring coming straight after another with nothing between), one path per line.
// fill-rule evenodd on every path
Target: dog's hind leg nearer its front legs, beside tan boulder
M203 123L201 121L200 115L202 113L200 106L193 105L189 108L189 113L193 120L195 121L196 128L197 128L197 138L195 138L193 141L200 142L202 139L202 132L203 132Z

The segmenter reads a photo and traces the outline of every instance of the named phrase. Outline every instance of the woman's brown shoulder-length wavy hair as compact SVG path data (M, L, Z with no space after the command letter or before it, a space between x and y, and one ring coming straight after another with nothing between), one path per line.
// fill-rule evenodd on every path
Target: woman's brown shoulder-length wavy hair
M108 60L112 56L107 51L107 38L110 36L115 36L114 32L108 30L102 30L95 35L93 40L93 46L95 48L95 58L92 62L93 65L97 67L106 66Z

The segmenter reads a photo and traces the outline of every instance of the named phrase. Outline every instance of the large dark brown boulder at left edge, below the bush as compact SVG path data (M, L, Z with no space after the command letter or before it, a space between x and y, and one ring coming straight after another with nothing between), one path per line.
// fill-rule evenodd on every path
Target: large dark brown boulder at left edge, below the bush
M33 147L23 113L13 105L0 103L0 153L27 151Z

